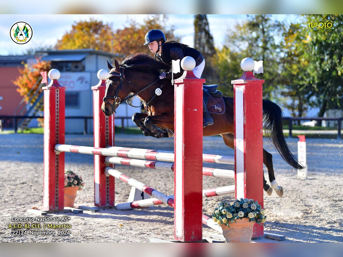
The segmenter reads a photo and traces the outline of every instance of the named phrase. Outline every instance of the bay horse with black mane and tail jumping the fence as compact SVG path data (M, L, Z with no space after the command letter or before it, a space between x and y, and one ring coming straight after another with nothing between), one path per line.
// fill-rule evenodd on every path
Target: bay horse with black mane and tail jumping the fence
M145 53L128 56L120 65L115 60L112 67L108 62L109 73L106 79L106 92L102 110L106 116L115 112L124 101L130 104L130 98L139 96L147 113L135 113L133 122L145 136L157 138L174 135L174 86L167 79L159 79L161 70L169 70L169 65L155 62ZM162 89L157 96L155 90ZM221 135L224 143L234 148L234 100L223 97L226 111L221 115L212 115L214 124L203 128L204 136ZM296 169L303 168L289 150L282 131L282 111L275 103L263 99L263 122L265 131L282 158ZM263 163L267 167L271 187L263 175L263 188L270 195L273 190L282 197L283 188L275 181L272 155L263 149Z

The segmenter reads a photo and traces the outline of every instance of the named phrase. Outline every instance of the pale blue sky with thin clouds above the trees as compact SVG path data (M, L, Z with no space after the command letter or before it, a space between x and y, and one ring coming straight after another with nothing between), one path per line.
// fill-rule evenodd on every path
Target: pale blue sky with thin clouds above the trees
M143 23L147 14L28 14L0 15L0 55L21 54L27 49L39 46L55 45L58 39L69 32L72 25L80 20L90 20L91 17L108 23L114 30L128 26L129 20ZM294 15L274 15L277 20L293 20ZM234 28L237 23L247 19L245 14L208 14L210 32L214 38L214 45L221 48L224 44L227 29ZM9 35L10 28L18 21L27 22L33 29L32 39L23 45L14 43ZM170 14L168 24L174 25L174 34L181 37L181 42L193 46L194 39L194 15L193 14ZM142 45L144 38L142 38ZM142 46L143 47L143 46Z

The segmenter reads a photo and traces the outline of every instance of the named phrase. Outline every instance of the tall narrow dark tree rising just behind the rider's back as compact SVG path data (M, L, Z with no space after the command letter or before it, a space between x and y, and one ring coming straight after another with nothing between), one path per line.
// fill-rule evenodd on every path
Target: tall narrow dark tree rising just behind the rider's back
M205 69L202 77L213 81L215 71L213 69L212 57L216 51L206 14L196 14L194 17L194 48L201 52L205 58Z

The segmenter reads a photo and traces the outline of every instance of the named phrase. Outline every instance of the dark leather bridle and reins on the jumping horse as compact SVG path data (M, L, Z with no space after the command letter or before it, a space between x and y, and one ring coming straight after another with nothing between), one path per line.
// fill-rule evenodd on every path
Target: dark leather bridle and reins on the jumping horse
M120 77L120 79L119 79L119 85L117 86L117 90L116 90L116 94L115 94L114 96L106 96L106 97L104 97L104 98L103 98L103 101L104 101L105 103L109 104L109 105L112 107L112 109L114 110L114 112L116 112L116 106L117 106L117 105L121 105L124 101L125 101L128 105L130 105L130 106L132 106L132 107L141 107L141 106L143 105L143 103L145 102L145 106L146 106L145 109L147 109L147 106L149 106L150 102L155 98L156 95L154 95L154 96L152 97L152 99L151 99L149 102L143 101L143 102L141 103L140 106L133 106L133 105L131 104L131 102L130 102L130 99L131 99L132 97L134 97L134 96L137 96L139 93L141 93L141 92L144 91L145 89L149 88L150 86L154 85L154 84L159 80L159 77L157 77L157 79L156 79L153 83L147 85L146 87L144 87L143 89L141 89L141 90L138 91L137 93L133 94L133 93L132 93L132 84L131 84L131 81L129 81L129 80L127 80L127 79L125 78L124 69L123 69L123 68L120 67L120 72L117 72L117 71L109 72L109 73L107 74L107 76L106 76L106 79L111 78L111 77L114 77L114 76ZM129 84L130 84L130 93L129 93L123 100L120 100L120 98L117 97L117 95L118 95L119 90L121 90L123 79L125 79L127 82L129 82ZM162 87L162 86L161 86L161 87ZM106 89L106 91L107 91L107 89ZM109 101L106 100L106 99L110 99L110 98L114 98L114 105L111 104ZM118 100L118 99L119 99L119 100ZM117 100L118 100L118 101L117 101Z

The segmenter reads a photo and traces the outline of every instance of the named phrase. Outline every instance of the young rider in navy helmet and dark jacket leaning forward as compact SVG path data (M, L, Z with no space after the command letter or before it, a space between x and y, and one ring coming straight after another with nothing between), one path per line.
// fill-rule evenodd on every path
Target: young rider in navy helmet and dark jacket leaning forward
M169 65L171 65L171 60L182 60L185 56L193 57L196 61L196 66L193 69L193 73L196 77L201 77L202 71L205 67L205 59L198 50L174 40L167 41L164 33L159 29L152 29L146 33L144 45L148 45L150 51L152 53L155 53L155 60L157 58L158 61L164 62ZM166 78L171 80L171 73L172 71L167 73L162 72L159 75L159 78ZM183 73L184 70L182 70L182 68L180 67L180 72L174 74L174 78L179 78ZM213 119L206 108L205 102L203 102L203 112L204 127L212 125Z

